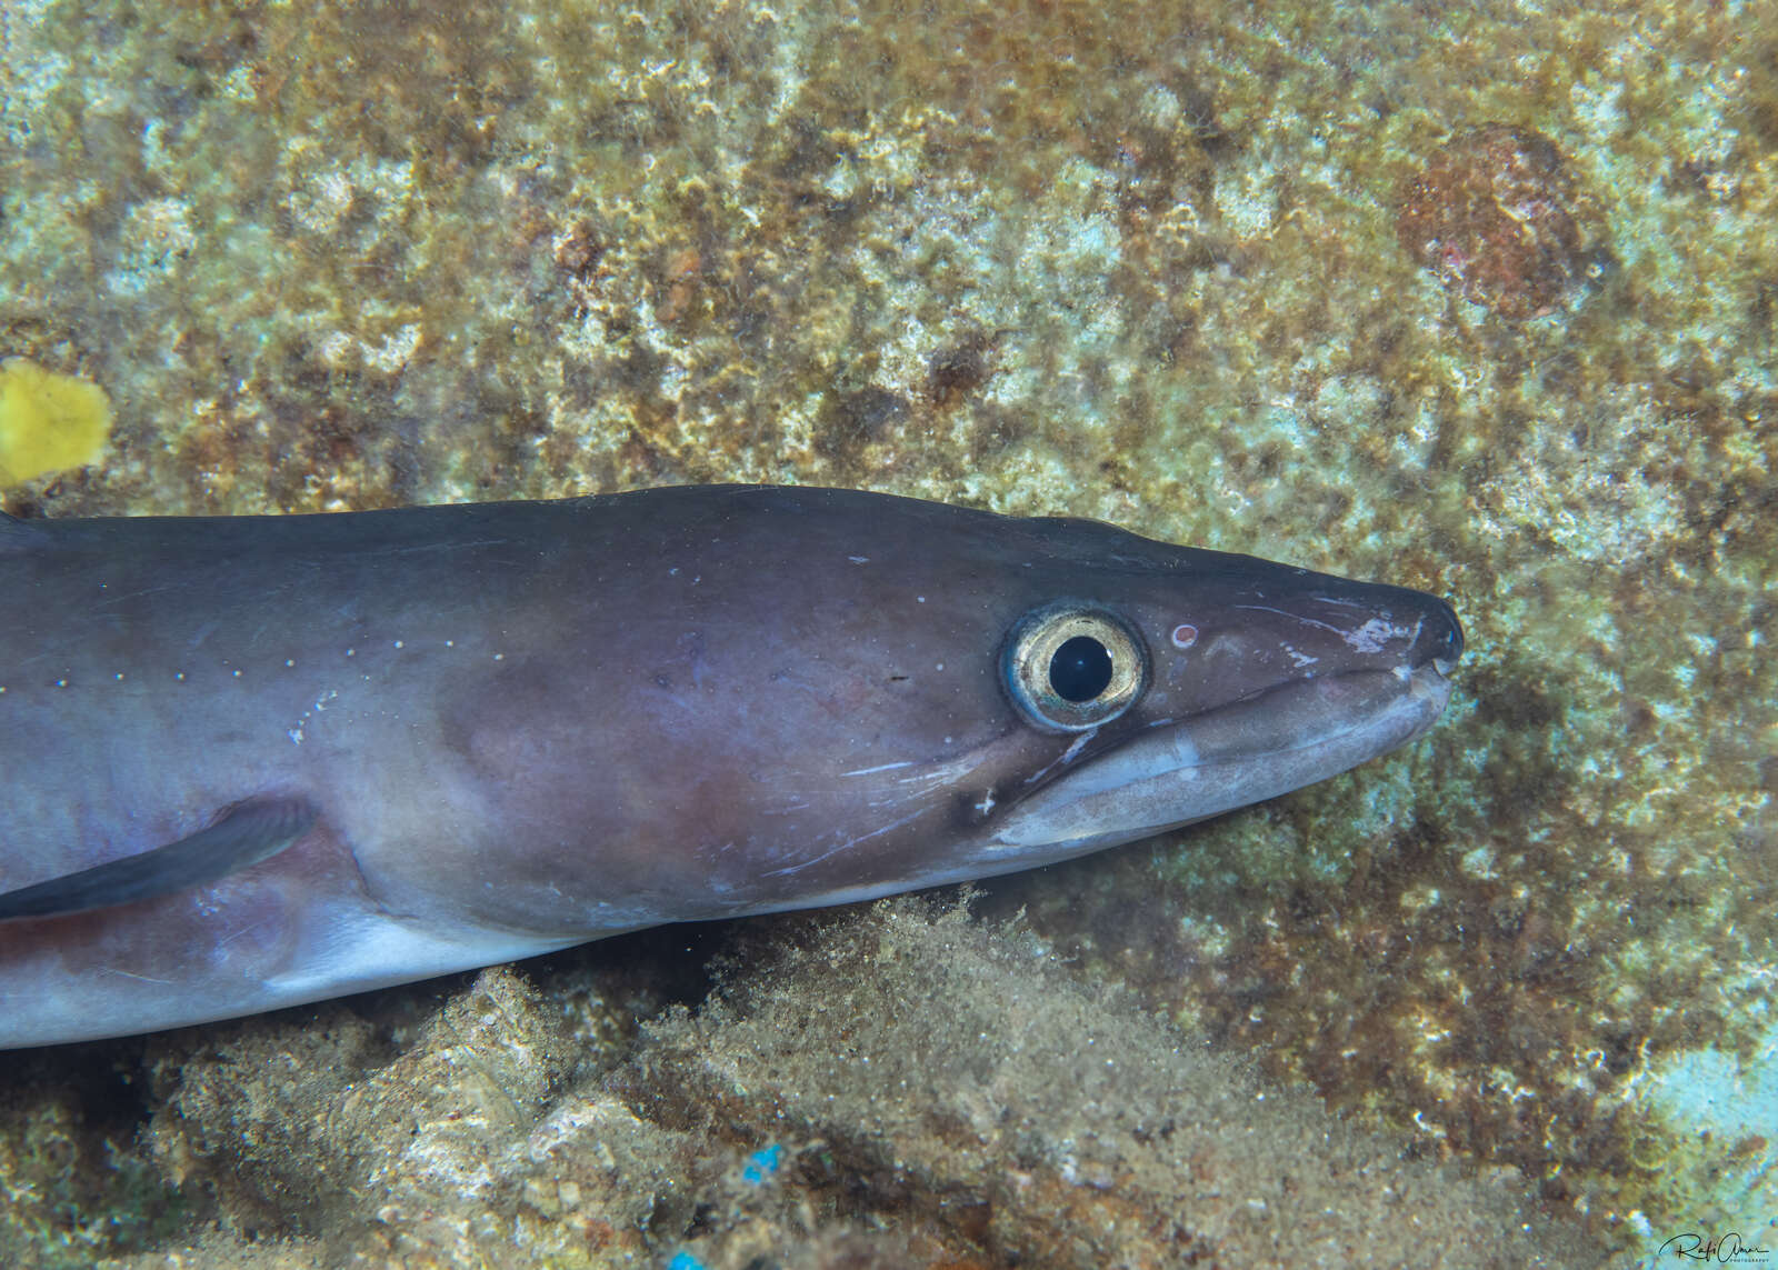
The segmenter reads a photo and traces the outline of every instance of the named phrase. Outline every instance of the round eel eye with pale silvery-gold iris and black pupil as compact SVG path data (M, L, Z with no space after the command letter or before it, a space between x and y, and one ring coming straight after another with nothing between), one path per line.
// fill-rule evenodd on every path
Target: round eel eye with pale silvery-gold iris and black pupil
M1102 608L1045 605L1019 619L1001 678L1013 704L1051 731L1111 722L1149 683L1149 653L1134 628Z

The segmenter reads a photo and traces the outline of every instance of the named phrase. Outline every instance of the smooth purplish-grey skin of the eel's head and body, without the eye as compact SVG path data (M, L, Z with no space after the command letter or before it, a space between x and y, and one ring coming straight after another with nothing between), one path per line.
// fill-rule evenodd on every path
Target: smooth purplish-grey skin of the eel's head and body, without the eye
M0 519L0 1048L1065 859L1412 740L1462 651L1415 591L837 489ZM1058 601L1150 660L1085 731L1003 674Z

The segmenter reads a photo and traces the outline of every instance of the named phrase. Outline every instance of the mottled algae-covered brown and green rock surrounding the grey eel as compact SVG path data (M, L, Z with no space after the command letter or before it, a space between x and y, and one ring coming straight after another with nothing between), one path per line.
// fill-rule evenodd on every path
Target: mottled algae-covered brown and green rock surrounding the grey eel
M5 510L866 486L1470 635L1410 751L974 918L0 1055L7 1265L1778 1245L1771 5L28 0L0 43L0 358L112 413Z

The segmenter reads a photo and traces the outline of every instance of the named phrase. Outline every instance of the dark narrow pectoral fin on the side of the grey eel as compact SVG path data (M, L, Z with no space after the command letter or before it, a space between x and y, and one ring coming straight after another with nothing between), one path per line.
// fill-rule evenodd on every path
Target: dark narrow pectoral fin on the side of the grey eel
M208 829L165 847L0 893L0 921L59 918L203 886L270 859L306 834L315 816L302 799L236 802Z

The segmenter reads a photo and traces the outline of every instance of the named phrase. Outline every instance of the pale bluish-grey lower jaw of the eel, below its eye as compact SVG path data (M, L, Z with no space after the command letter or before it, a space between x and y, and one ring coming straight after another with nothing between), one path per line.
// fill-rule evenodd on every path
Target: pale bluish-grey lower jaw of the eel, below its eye
M1451 697L1449 669L1438 658L1293 679L1150 724L1019 800L992 827L989 850L1021 852L1029 863L1063 859L1337 776L1431 727Z

